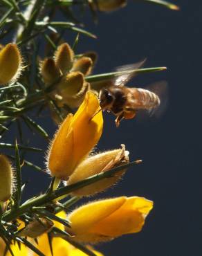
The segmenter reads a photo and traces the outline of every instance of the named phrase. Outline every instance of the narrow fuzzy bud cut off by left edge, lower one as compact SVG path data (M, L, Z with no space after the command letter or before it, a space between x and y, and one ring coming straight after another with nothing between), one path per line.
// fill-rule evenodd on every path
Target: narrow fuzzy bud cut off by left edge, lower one
M0 201L5 202L10 199L13 186L13 171L6 156L0 155Z

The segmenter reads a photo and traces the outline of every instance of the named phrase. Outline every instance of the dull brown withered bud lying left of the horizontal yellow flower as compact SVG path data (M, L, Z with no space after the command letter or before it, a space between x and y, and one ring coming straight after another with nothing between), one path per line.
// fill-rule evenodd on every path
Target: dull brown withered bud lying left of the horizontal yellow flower
M45 218L39 218L33 222L28 223L28 225L18 233L19 237L32 237L36 238L39 235L49 232L53 228L53 221Z

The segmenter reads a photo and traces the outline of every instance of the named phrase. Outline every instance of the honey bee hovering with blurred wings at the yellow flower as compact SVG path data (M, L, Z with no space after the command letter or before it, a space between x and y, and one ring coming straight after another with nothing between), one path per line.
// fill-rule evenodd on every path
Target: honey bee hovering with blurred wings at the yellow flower
M122 66L117 71L134 70L134 68L142 66L144 62ZM142 109L151 113L160 106L160 98L156 93L148 89L125 86L134 75L135 72L120 75L116 77L112 85L100 91L100 107L103 111L107 110L116 116L116 127L120 125L120 121L123 119L135 118L138 111Z

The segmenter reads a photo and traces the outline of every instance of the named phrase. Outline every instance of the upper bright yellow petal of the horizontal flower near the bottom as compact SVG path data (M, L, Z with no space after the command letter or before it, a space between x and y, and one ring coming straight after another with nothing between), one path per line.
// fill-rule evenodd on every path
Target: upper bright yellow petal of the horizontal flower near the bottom
M102 219L118 210L126 199L125 196L121 196L116 199L87 203L77 208L68 215L68 219L71 221L71 232L76 235L85 234L95 223L100 223Z

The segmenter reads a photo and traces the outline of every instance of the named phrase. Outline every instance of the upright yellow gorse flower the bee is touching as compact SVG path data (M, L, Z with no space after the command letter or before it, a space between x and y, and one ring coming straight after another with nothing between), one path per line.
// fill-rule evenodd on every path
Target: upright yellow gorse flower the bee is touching
M88 92L75 115L69 114L62 122L48 152L51 176L68 179L98 143L103 127L102 112L95 115L99 108L98 98Z

